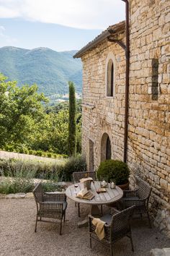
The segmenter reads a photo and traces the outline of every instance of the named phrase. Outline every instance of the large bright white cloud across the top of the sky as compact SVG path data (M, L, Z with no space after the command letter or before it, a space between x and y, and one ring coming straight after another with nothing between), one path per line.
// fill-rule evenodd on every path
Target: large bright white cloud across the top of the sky
M124 20L121 0L0 0L0 18L22 17L68 27L104 29Z

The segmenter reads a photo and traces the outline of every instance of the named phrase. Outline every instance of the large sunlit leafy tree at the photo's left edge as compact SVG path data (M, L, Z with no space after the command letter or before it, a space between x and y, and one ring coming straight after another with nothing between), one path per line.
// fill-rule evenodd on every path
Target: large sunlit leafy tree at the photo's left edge
M0 74L0 147L29 143L29 134L36 122L44 118L42 102L47 98L37 93L37 85L17 87Z

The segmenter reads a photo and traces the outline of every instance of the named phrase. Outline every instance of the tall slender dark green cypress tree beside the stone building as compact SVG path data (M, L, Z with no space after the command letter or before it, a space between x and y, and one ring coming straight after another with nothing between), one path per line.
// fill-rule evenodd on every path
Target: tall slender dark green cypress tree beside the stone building
M76 155L76 95L73 82L69 85L68 155Z

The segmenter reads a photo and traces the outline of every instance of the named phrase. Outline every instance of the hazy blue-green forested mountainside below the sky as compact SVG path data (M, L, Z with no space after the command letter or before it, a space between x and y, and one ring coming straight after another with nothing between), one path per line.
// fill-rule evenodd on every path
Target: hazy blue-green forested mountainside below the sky
M81 92L81 61L73 59L76 51L53 51L49 48L27 50L5 46L0 48L0 72L18 85L36 83L39 91L50 96L68 93L68 81Z

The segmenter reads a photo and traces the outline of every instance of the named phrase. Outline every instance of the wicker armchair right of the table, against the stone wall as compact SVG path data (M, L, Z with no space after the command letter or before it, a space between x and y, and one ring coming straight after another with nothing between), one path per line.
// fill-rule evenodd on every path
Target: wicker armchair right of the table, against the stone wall
M135 205L135 213L140 214L147 213L149 226L151 228L151 220L148 213L148 202L151 195L151 187L143 182L142 179L138 180L138 189L135 190L123 190L122 204L123 209Z

